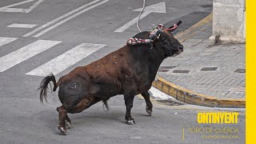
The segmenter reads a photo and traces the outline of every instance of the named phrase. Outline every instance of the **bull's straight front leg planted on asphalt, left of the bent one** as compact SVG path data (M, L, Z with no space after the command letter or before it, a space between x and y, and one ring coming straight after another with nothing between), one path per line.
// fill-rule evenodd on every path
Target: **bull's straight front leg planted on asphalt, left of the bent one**
M134 104L134 97L135 97L134 91L128 91L124 94L125 103L126 103L126 117L125 118L126 118L126 123L129 125L135 124L134 118L132 118L130 115L130 110Z

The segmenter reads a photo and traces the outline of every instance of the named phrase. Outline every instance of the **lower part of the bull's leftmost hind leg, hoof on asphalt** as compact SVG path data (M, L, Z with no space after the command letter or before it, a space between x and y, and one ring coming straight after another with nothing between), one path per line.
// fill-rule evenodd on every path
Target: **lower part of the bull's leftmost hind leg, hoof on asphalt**
M57 110L58 110L58 130L60 130L62 134L66 134L65 118L67 117L67 111L65 110L63 105L58 107Z

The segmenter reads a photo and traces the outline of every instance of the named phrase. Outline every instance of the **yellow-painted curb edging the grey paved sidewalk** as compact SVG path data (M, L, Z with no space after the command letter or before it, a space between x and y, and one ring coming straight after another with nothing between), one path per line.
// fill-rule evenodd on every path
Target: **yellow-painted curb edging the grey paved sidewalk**
M184 42L186 39L190 38L191 35L193 35L194 29L196 29L198 26L202 26L208 22L211 22L211 19L212 13L209 14L206 18L203 18L200 22L194 24L194 26L191 26L188 30L177 34L175 38L178 38L180 42ZM179 39L186 34L188 34L188 38ZM187 90L182 86L178 86L172 82L168 82L166 81L166 79L159 76L156 76L154 82L152 83L152 86L166 94L169 94L173 98L193 105L210 107L246 107L246 100L244 99L219 99L205 94L198 94L192 90Z

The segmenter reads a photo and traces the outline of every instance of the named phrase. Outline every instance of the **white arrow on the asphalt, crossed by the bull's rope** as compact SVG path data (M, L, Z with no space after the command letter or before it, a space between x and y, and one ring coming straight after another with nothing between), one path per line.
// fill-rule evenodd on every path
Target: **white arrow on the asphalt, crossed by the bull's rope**
M141 11L142 8L134 10L134 11ZM141 15L141 18L146 17L150 13L166 13L166 2L160 2L151 6L146 6L144 12ZM118 28L118 30L114 30L114 32L123 32L124 30L128 29L130 26L133 26L138 21L138 17L134 18L130 22L127 22L124 26Z

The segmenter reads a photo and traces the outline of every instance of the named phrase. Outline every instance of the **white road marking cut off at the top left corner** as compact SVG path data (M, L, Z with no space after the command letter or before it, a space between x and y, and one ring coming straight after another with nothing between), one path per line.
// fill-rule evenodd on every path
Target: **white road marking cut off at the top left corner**
M23 1L23 2L14 3L14 4L9 5L9 6L0 7L0 11L1 12L10 12L10 13L29 13L31 10L33 10L36 6L38 6L44 0L38 0L38 2L35 2L34 5L30 6L30 8L28 8L28 9L10 8L10 7L13 7L13 6L18 6L18 5L22 5L24 3L33 2L33 1L35 1L35 0L26 0L26 1Z

